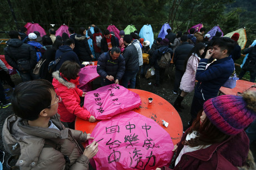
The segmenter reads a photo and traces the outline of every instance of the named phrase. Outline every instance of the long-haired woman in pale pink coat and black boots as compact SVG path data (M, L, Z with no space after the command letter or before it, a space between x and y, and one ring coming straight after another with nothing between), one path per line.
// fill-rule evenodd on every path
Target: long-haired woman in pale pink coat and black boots
M196 44L185 61L186 71L180 81L181 94L174 102L174 107L177 111L184 109L184 107L181 106L181 102L189 92L194 90L196 69L198 68L199 60L203 58L201 55L204 53L204 48L204 43Z

